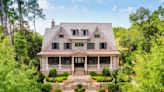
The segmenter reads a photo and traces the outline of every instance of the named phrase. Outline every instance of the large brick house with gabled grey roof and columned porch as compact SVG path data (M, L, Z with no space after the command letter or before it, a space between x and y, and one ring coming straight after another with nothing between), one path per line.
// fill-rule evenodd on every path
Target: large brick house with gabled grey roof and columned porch
M40 71L52 68L58 73L100 73L104 67L119 67L111 23L61 23L46 28L40 56Z

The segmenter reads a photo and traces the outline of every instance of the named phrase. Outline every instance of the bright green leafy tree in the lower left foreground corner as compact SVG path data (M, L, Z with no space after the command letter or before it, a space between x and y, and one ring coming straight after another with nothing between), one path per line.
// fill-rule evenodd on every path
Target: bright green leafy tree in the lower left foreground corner
M9 37L0 42L0 91L33 92L38 89L36 69L15 60Z

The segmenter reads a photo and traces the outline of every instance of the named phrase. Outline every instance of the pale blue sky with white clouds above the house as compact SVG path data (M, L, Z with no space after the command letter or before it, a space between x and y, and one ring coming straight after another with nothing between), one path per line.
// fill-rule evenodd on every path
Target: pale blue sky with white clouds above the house
M164 0L39 0L38 3L46 15L45 20L36 22L37 32L43 35L53 19L56 25L61 22L97 22L128 28L130 13L139 7L153 11Z

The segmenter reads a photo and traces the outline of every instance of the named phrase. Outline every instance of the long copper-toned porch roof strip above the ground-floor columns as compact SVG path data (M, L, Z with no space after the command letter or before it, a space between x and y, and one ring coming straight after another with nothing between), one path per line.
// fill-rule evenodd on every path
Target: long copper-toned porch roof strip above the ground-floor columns
M118 51L42 51L38 53L37 55L75 55L75 54L81 54L81 55L119 55L120 53Z

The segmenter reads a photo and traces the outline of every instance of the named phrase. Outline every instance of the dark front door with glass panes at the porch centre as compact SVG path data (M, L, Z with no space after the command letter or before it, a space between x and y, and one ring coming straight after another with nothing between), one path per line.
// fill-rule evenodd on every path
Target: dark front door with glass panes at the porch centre
M75 62L75 68L84 68L85 58L84 57L75 57L74 62Z

